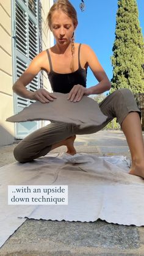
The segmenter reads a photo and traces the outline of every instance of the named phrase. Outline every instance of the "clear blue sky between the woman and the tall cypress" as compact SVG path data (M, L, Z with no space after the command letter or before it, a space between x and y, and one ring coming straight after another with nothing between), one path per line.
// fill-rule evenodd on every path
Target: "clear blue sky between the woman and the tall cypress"
M75 42L86 43L95 51L109 79L112 78L112 46L115 40L117 0L84 0L85 11L81 12L81 0L70 0L77 11L79 24L75 33ZM144 34L144 0L137 0L140 27ZM98 84L88 68L87 87Z

